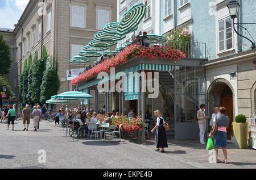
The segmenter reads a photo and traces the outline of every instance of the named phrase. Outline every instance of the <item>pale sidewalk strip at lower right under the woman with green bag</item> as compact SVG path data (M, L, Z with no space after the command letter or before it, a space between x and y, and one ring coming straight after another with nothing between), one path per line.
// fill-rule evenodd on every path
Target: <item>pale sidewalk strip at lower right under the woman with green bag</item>
M147 141L144 144L152 150L155 149L154 140ZM195 161L205 165L205 168L256 168L256 150L254 149L236 149L234 144L228 143L228 162L229 164L209 163L211 154L206 149L206 145L201 145L197 140L168 140L166 154L179 156L189 161ZM219 150L219 160L224 160L222 149Z

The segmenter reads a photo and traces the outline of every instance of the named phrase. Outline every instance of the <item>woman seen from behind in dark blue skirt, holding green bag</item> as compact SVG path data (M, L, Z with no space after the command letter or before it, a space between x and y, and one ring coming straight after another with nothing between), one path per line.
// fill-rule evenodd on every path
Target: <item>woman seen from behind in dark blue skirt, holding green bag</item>
M228 164L228 152L226 150L226 129L229 127L229 118L226 116L225 107L220 107L218 109L218 114L216 118L213 119L213 125L214 123L217 123L217 133L214 135L214 151L216 156L216 163L221 162L218 160L218 148L222 148L222 152L225 158L222 162ZM211 134L209 136L211 136Z

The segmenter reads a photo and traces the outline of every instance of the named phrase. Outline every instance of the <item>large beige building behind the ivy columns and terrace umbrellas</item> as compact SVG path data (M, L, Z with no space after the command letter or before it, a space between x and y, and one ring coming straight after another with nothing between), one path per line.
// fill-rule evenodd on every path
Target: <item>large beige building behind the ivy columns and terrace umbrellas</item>
M82 51L102 26L117 20L116 0L44 0L30 1L13 31L15 58L18 74L30 53L41 57L46 46L49 58L59 64L59 77L67 78L71 65L69 60ZM92 60L93 61L93 60ZM84 65L82 65L84 66ZM16 77L17 78L17 77ZM61 84L60 93L73 90L69 81Z

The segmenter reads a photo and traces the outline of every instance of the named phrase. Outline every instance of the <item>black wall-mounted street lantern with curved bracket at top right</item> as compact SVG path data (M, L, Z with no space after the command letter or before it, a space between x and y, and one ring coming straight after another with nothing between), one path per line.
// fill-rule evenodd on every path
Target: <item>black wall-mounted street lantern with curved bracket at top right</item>
M229 14L230 14L230 17L233 19L233 28L234 28L234 31L236 32L236 34L238 34L239 36L249 40L251 42L251 49L255 49L255 43L253 41L251 41L249 38L239 34L234 26L234 24L238 24L238 23L234 23L234 19L237 18L237 13L238 13L238 10L240 8L240 4L237 2L237 1L230 1L228 3L228 9L229 9ZM248 23L250 24L250 23Z

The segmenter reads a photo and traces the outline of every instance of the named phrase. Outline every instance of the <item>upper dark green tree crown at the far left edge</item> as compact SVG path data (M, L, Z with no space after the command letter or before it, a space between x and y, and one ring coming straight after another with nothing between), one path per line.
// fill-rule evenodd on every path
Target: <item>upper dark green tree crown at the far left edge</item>
M0 74L10 73L11 66L11 52L10 46L3 40L3 36L0 35Z

